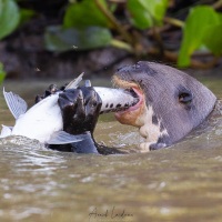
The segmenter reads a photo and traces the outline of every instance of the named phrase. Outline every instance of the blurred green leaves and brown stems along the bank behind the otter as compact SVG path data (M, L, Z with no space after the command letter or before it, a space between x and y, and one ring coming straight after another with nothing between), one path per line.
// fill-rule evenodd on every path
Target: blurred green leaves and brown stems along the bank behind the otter
M44 27L48 51L112 46L180 68L208 68L222 54L221 9L222 0L0 0L0 40L41 13L54 13L58 19Z

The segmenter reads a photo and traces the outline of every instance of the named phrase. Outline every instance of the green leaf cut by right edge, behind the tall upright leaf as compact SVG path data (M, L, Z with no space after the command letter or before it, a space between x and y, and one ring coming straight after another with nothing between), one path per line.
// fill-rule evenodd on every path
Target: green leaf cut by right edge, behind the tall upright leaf
M215 56L222 54L222 23L209 27L203 37L203 43Z

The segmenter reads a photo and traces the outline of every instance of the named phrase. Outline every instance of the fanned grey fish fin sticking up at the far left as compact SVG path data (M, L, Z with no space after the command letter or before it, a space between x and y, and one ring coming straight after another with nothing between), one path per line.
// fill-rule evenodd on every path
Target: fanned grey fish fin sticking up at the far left
M3 88L3 97L16 120L27 111L27 102L18 94L6 92Z

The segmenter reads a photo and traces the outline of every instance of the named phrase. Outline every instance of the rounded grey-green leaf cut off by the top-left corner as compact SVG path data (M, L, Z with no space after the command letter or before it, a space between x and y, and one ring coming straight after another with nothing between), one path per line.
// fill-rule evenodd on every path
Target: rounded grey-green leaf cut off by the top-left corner
M0 0L0 39L2 39L18 27L20 13L13 0Z

